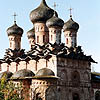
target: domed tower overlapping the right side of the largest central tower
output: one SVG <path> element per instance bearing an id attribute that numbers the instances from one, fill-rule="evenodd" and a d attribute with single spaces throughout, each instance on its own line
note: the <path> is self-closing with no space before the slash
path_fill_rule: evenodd
<path id="1" fill-rule="evenodd" d="M 64 21 L 58 18 L 54 12 L 53 17 L 46 22 L 46 25 L 49 28 L 49 42 L 52 44 L 60 44 L 61 30 L 64 25 Z"/>

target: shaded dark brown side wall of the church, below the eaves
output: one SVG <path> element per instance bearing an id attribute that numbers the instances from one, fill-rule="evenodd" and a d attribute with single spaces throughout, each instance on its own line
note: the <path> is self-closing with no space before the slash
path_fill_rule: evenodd
<path id="1" fill-rule="evenodd" d="M 60 100 L 91 100 L 91 69 L 87 61 L 57 59 L 57 76 Z M 62 96 L 63 95 L 63 96 Z"/>

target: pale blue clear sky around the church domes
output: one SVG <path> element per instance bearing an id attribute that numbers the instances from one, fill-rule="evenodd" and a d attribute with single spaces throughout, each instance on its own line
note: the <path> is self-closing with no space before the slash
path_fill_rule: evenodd
<path id="1" fill-rule="evenodd" d="M 33 27 L 29 14 L 39 6 L 41 0 L 1 0 L 0 1 L 0 58 L 3 58 L 5 49 L 9 48 L 6 33 L 8 27 L 13 25 L 13 14 L 16 12 L 17 24 L 23 28 L 22 48 L 29 50 L 27 31 Z M 78 45 L 82 46 L 84 54 L 91 55 L 98 64 L 92 63 L 92 71 L 100 72 L 100 0 L 46 0 L 53 8 L 56 2 L 56 11 L 61 19 L 69 20 L 71 7 L 74 21 L 80 25 L 78 31 Z M 64 36 L 62 33 L 62 42 Z"/>

